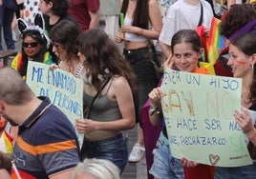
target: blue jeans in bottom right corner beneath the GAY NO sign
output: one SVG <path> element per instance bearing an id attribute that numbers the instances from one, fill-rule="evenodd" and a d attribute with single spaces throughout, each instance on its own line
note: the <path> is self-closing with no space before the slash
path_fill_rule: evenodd
<path id="1" fill-rule="evenodd" d="M 238 168 L 215 168 L 214 179 L 256 179 L 256 164 Z"/>

